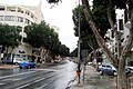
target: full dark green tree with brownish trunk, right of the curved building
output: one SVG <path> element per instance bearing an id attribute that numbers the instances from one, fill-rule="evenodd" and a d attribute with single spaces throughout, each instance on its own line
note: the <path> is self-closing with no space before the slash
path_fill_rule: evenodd
<path id="1" fill-rule="evenodd" d="M 65 52 L 60 50 L 62 44 L 58 33 L 47 22 L 32 23 L 27 26 L 24 31 L 27 33 L 25 42 L 34 48 L 40 48 L 41 59 L 51 61 L 51 59 L 55 60 L 57 56 L 65 56 Z M 68 51 L 68 49 L 64 50 Z"/>

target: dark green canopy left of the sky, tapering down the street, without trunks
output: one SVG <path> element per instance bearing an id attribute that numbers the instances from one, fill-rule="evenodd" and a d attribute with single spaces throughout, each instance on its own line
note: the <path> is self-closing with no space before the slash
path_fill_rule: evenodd
<path id="1" fill-rule="evenodd" d="M 58 33 L 44 21 L 39 24 L 32 23 L 27 26 L 25 32 L 25 42 L 33 46 L 34 48 L 44 47 L 54 55 L 69 55 L 69 48 L 65 44 L 61 44 Z"/>

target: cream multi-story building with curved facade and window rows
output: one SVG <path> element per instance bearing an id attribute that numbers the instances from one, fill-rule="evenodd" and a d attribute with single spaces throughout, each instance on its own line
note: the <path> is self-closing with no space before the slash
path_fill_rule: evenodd
<path id="1" fill-rule="evenodd" d="M 19 26 L 21 28 L 21 43 L 18 48 L 14 48 L 12 50 L 11 53 L 13 55 L 13 57 L 24 57 L 27 59 L 31 58 L 33 49 L 31 46 L 23 42 L 23 38 L 27 38 L 24 27 L 33 22 L 40 23 L 42 20 L 43 16 L 41 11 L 41 4 L 37 7 L 0 4 L 0 23 Z"/>

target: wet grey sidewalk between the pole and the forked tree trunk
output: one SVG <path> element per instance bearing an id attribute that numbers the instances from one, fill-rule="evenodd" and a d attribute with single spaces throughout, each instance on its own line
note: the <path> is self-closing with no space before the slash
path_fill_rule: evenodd
<path id="1" fill-rule="evenodd" d="M 86 66 L 84 71 L 84 82 L 82 72 L 81 83 L 78 83 L 78 80 L 75 80 L 70 89 L 115 89 L 115 78 L 100 76 L 92 66 Z"/>

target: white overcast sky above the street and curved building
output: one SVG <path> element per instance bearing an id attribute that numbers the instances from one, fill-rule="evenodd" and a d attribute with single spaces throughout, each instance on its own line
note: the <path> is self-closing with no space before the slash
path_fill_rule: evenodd
<path id="1" fill-rule="evenodd" d="M 40 0 L 0 0 L 1 3 L 38 6 Z M 45 22 L 50 26 L 57 26 L 59 30 L 60 41 L 73 50 L 76 48 L 78 38 L 74 37 L 72 9 L 78 6 L 78 0 L 62 0 L 58 6 L 51 9 L 52 4 L 48 4 L 47 0 L 42 0 L 42 12 Z"/>

